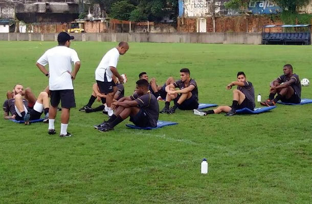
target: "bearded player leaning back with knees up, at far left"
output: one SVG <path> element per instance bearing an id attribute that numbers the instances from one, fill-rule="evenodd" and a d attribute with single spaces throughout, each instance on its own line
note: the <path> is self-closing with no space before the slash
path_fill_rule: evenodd
<path id="1" fill-rule="evenodd" d="M 33 109 L 28 109 L 28 100 L 23 98 L 22 94 L 24 88 L 22 85 L 17 84 L 13 88 L 14 96 L 11 99 L 7 99 L 3 104 L 4 118 L 5 119 L 15 119 L 15 120 L 24 120 L 25 124 L 29 124 L 29 120 L 40 119 L 42 111 L 44 110 L 43 122 L 49 121 L 49 95 L 47 92 L 42 91 L 35 104 Z M 9 115 L 11 113 L 11 116 Z"/>

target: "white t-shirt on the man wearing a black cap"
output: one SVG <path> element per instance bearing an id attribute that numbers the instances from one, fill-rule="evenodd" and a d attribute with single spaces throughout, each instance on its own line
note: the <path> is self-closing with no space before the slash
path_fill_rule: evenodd
<path id="1" fill-rule="evenodd" d="M 50 90 L 74 89 L 72 76 L 72 63 L 80 62 L 74 49 L 66 46 L 56 46 L 48 49 L 37 61 L 42 66 L 49 64 Z"/>

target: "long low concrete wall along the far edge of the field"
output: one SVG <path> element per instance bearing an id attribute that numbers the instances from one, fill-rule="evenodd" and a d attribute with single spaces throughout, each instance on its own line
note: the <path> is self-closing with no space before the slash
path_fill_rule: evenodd
<path id="1" fill-rule="evenodd" d="M 75 41 L 261 44 L 261 33 L 73 33 Z M 57 34 L 0 33 L 0 40 L 56 41 Z"/>

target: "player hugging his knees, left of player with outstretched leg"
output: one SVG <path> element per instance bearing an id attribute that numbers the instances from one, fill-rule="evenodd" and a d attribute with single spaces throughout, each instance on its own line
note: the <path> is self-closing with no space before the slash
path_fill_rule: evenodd
<path id="1" fill-rule="evenodd" d="M 198 89 L 195 80 L 190 78 L 190 70 L 183 68 L 180 70 L 181 80 L 166 86 L 166 103 L 162 114 L 172 114 L 177 108 L 180 110 L 193 110 L 198 108 Z M 180 90 L 175 90 L 179 88 Z M 173 100 L 174 106 L 169 109 L 170 101 Z"/>

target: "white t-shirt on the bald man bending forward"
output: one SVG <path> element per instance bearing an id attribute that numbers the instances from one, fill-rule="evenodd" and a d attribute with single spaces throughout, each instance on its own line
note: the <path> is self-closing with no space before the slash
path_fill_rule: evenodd
<path id="1" fill-rule="evenodd" d="M 109 67 L 117 68 L 117 63 L 119 60 L 119 51 L 116 47 L 110 49 L 102 58 L 98 68 L 95 70 L 95 80 L 104 82 L 104 75 L 106 71 L 107 81 L 112 82 L 113 73 Z"/>

